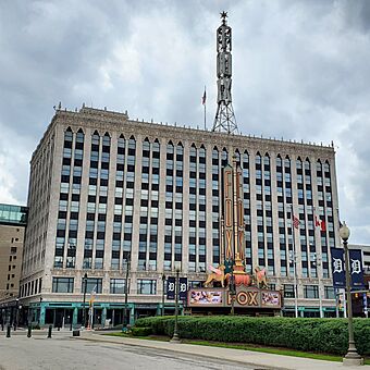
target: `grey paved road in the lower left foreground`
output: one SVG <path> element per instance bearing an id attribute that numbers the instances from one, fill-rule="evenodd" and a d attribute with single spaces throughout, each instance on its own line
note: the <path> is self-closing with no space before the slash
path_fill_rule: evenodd
<path id="1" fill-rule="evenodd" d="M 1 333 L 3 334 L 3 333 Z M 0 334 L 1 370 L 61 369 L 133 369 L 133 370 L 238 370 L 251 369 L 203 357 L 140 348 L 123 344 L 75 341 L 70 333 L 58 333 L 51 340 L 45 333 L 32 338 L 17 333 L 11 338 Z M 175 358 L 174 358 L 175 356 Z"/>

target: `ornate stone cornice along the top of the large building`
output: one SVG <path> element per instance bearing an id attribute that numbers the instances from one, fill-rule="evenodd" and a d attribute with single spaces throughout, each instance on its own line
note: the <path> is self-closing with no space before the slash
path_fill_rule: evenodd
<path id="1" fill-rule="evenodd" d="M 275 138 L 263 138 L 250 135 L 233 135 L 219 132 L 208 132 L 203 130 L 168 125 L 162 123 L 149 123 L 144 121 L 133 121 L 126 113 L 109 112 L 106 110 L 96 110 L 83 108 L 78 112 L 57 111 L 53 119 L 58 124 L 71 126 L 73 131 L 79 127 L 97 130 L 103 135 L 106 132 L 116 132 L 125 137 L 141 136 L 150 140 L 172 140 L 174 144 L 194 143 L 197 147 L 200 145 L 218 147 L 219 150 L 236 150 L 240 152 L 247 150 L 248 153 L 259 151 L 262 156 L 268 153 L 281 153 L 289 157 L 314 157 L 334 159 L 335 151 L 332 146 L 316 144 L 297 143 L 292 140 L 282 140 Z M 53 122 L 52 121 L 52 122 Z"/>

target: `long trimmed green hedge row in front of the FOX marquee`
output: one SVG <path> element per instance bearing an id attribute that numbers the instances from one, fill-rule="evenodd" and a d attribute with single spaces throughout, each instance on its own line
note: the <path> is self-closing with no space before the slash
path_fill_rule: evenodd
<path id="1" fill-rule="evenodd" d="M 174 317 L 136 321 L 153 334 L 173 335 Z M 359 354 L 370 356 L 370 320 L 355 319 L 355 342 Z M 306 351 L 345 355 L 348 349 L 346 319 L 292 319 L 250 317 L 178 317 L 183 338 L 259 344 Z"/>

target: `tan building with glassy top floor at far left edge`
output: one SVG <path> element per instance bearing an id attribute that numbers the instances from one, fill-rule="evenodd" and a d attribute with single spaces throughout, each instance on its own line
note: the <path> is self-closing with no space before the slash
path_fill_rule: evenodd
<path id="1" fill-rule="evenodd" d="M 17 311 L 27 208 L 0 205 L 0 317 L 13 322 Z"/>

